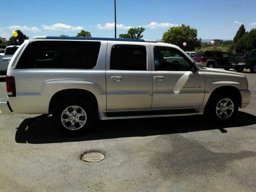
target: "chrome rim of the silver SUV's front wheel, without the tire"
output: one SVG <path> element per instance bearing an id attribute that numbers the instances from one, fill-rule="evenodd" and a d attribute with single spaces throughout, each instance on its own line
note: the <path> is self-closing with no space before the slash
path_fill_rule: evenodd
<path id="1" fill-rule="evenodd" d="M 234 103 L 228 99 L 222 99 L 216 106 L 216 114 L 221 119 L 229 118 L 234 111 Z"/>

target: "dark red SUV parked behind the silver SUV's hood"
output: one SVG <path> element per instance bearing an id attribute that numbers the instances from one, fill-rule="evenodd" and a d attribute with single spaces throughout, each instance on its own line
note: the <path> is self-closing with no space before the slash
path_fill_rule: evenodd
<path id="1" fill-rule="evenodd" d="M 209 68 L 224 68 L 229 70 L 232 68 L 230 55 L 221 51 L 199 51 L 194 55 L 194 60 L 199 62 L 201 66 Z"/>

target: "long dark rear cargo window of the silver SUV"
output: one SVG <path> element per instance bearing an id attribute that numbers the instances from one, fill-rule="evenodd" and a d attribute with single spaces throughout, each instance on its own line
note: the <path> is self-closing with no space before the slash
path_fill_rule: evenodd
<path id="1" fill-rule="evenodd" d="M 100 42 L 35 41 L 28 45 L 16 68 L 92 69 Z"/>

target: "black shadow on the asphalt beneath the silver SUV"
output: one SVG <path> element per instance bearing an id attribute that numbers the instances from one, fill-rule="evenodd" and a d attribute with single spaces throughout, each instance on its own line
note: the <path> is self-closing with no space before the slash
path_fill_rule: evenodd
<path id="1" fill-rule="evenodd" d="M 76 137 L 62 135 L 52 126 L 51 116 L 38 116 L 25 119 L 17 128 L 17 143 L 60 143 L 88 140 L 112 139 L 123 137 L 144 137 L 164 134 L 177 134 L 204 130 L 220 130 L 256 124 L 256 116 L 238 112 L 239 118 L 222 125 L 209 124 L 204 116 L 186 116 L 169 118 L 144 118 L 129 120 L 98 121 L 86 134 Z"/>

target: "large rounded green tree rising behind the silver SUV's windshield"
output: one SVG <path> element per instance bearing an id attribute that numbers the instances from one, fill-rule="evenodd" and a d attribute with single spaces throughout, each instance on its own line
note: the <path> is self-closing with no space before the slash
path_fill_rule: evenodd
<path id="1" fill-rule="evenodd" d="M 192 51 L 195 48 L 201 47 L 202 39 L 197 38 L 197 29 L 182 24 L 181 26 L 172 27 L 164 32 L 162 42 L 177 45 L 184 51 Z M 183 46 L 184 42 L 187 43 L 187 46 Z"/>

